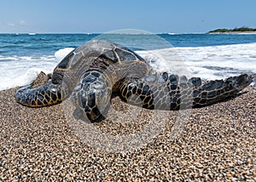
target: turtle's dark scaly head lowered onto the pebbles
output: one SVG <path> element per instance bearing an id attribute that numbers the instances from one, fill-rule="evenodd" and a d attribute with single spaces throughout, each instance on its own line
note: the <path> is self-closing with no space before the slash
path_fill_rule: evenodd
<path id="1" fill-rule="evenodd" d="M 72 94 L 77 107 L 75 117 L 83 121 L 102 122 L 108 114 L 111 94 L 108 77 L 98 71 L 85 73 Z"/>

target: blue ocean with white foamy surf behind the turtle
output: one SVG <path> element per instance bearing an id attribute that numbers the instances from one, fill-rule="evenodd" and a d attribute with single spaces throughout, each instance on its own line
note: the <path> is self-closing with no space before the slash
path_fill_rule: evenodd
<path id="1" fill-rule="evenodd" d="M 93 38 L 131 48 L 157 71 L 207 80 L 256 75 L 256 35 L 0 34 L 0 90 L 52 72 L 73 48 Z"/>

